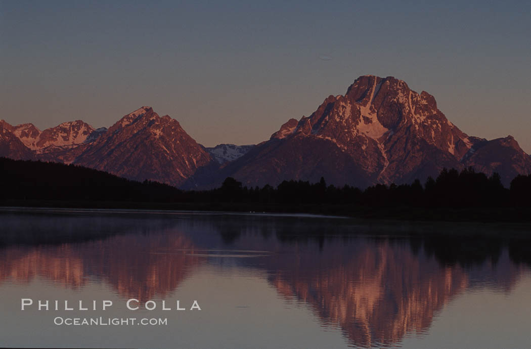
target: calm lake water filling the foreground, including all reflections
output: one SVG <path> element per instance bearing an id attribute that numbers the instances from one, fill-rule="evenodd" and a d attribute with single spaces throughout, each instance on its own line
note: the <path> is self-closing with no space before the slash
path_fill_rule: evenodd
<path id="1" fill-rule="evenodd" d="M 527 227 L 124 210 L 4 209 L 0 220 L 0 347 L 531 343 Z M 22 311 L 22 298 L 34 304 Z M 100 317 L 167 324 L 54 324 Z"/>

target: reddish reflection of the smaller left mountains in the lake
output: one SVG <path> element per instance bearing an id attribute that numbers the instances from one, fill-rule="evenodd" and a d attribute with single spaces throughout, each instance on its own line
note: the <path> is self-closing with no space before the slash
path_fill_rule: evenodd
<path id="1" fill-rule="evenodd" d="M 41 223 L 46 222 L 40 219 Z M 16 225 L 16 221 L 10 222 Z M 31 234 L 52 236 L 57 222 L 61 220 L 53 218 L 42 229 L 26 232 L 24 242 Z M 68 219 L 66 223 L 70 223 Z M 109 284 L 120 296 L 145 301 L 175 291 L 198 263 L 189 237 L 168 228 L 175 226 L 175 222 L 162 224 L 157 220 L 107 217 L 96 219 L 92 225 L 90 219 L 85 222 L 81 219 L 80 223 L 66 224 L 63 234 L 69 236 L 69 240 L 77 234 L 77 239 L 83 242 L 61 244 L 53 241 L 48 245 L 5 248 L 0 254 L 0 283 L 7 278 L 20 283 L 42 277 L 76 289 L 86 285 L 91 277 Z M 119 223 L 123 224 L 118 231 L 121 234 L 110 235 L 111 229 Z M 84 241 L 92 236 L 94 224 L 107 232 L 107 237 Z"/>

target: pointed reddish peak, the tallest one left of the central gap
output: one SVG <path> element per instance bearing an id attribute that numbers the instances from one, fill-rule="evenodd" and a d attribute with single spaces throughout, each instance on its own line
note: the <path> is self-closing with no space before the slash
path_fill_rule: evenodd
<path id="1" fill-rule="evenodd" d="M 134 180 L 179 186 L 211 161 L 175 119 L 142 107 L 89 143 L 74 163 Z"/>

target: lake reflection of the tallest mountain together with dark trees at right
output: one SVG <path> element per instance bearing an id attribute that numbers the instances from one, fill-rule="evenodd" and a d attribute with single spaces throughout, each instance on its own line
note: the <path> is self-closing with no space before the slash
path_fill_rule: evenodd
<path id="1" fill-rule="evenodd" d="M 251 236 L 270 236 L 270 230 L 255 228 L 253 234 L 247 226 L 236 245 L 258 248 Z M 280 295 L 309 304 L 356 346 L 396 345 L 407 333 L 425 333 L 434 314 L 460 292 L 476 287 L 509 292 L 521 274 L 511 261 L 521 254 L 516 243 L 498 237 L 331 239 L 329 233 L 340 232 L 330 230 L 318 227 L 307 236 L 293 226 L 277 227 L 276 237 L 285 244 L 262 267 Z M 273 249 L 277 243 L 265 242 Z M 519 245 L 526 250 L 529 241 Z M 260 248 L 267 249 L 263 241 Z"/>

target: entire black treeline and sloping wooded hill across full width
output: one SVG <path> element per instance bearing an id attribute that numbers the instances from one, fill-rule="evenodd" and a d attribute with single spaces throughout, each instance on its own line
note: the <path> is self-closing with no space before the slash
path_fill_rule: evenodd
<path id="1" fill-rule="evenodd" d="M 182 191 L 157 182 L 136 182 L 94 169 L 0 158 L 0 199 L 113 201 L 161 203 L 233 203 L 269 207 L 308 205 L 356 207 L 482 208 L 531 206 L 531 175 L 519 175 L 504 188 L 498 174 L 488 177 L 473 169 L 458 172 L 443 169 L 425 183 L 353 186 L 284 181 L 277 188 L 247 188 L 234 178 L 227 178 L 220 188 L 205 191 Z M 230 208 L 230 207 L 228 207 Z M 344 211 L 342 213 L 345 213 Z"/>

